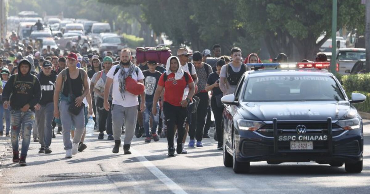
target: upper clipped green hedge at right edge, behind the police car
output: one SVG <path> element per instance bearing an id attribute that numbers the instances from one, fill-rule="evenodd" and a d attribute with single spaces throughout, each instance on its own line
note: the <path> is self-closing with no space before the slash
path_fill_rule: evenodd
<path id="1" fill-rule="evenodd" d="M 370 73 L 344 75 L 341 78 L 342 85 L 346 92 L 364 91 L 370 93 Z"/>

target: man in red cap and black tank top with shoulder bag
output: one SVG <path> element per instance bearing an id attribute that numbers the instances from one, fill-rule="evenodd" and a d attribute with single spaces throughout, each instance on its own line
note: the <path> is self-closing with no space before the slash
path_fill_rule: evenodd
<path id="1" fill-rule="evenodd" d="M 75 53 L 68 54 L 67 64 L 68 68 L 59 73 L 55 83 L 54 117 L 61 120 L 65 157 L 71 158 L 77 154 L 78 144 L 85 131 L 83 99 L 89 92 L 89 83 L 87 73 L 77 68 Z M 77 111 L 70 112 L 70 106 L 71 110 Z M 92 107 L 89 107 L 89 114 L 93 114 Z M 72 125 L 76 128 L 73 142 L 71 142 Z"/>

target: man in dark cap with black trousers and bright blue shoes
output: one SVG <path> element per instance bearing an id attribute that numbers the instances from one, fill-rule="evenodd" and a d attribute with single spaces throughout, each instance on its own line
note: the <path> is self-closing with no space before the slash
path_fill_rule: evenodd
<path id="1" fill-rule="evenodd" d="M 195 96 L 198 96 L 199 98 L 199 105 L 196 109 L 196 129 L 189 129 L 189 136 L 190 141 L 194 141 L 194 138 L 196 138 L 196 147 L 203 147 L 203 129 L 207 118 L 209 104 L 208 92 L 205 90 L 205 86 L 207 84 L 209 74 L 212 73 L 212 67 L 207 63 L 202 62 L 202 53 L 200 52 L 195 52 L 193 54 L 193 63 L 196 75 L 198 76 L 198 83 L 196 84 L 198 86 L 198 92 Z"/>

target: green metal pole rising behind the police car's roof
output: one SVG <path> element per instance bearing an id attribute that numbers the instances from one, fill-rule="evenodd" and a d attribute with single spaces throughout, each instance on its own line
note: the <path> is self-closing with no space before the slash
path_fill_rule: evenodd
<path id="1" fill-rule="evenodd" d="M 370 0 L 367 1 L 370 2 Z M 337 0 L 333 0 L 332 14 L 332 60 L 330 61 L 330 71 L 335 75 L 337 65 Z"/>

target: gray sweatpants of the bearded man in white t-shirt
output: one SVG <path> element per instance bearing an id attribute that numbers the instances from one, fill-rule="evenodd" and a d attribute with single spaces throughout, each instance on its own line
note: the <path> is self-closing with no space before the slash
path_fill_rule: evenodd
<path id="1" fill-rule="evenodd" d="M 134 138 L 134 131 L 138 115 L 138 105 L 123 107 L 121 105 L 112 105 L 112 128 L 114 140 L 121 140 L 122 125 L 125 123 L 124 144 L 131 144 Z"/>

